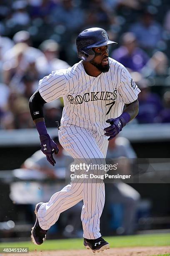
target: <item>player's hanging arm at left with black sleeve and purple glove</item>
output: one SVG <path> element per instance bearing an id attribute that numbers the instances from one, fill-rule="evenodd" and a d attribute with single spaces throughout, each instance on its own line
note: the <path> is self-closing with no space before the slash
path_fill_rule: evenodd
<path id="1" fill-rule="evenodd" d="M 45 103 L 47 102 L 41 97 L 39 90 L 37 90 L 30 97 L 29 107 L 32 120 L 40 135 L 41 151 L 46 155 L 47 160 L 50 162 L 50 164 L 54 166 L 56 162 L 52 154 L 57 154 L 58 148 L 56 143 L 50 138 L 50 135 L 47 133 L 43 114 L 43 106 Z"/>

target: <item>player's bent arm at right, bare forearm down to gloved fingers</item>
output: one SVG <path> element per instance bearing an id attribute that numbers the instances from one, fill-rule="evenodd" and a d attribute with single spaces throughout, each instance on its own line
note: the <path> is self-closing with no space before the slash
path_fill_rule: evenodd
<path id="1" fill-rule="evenodd" d="M 133 120 L 138 115 L 139 112 L 139 102 L 138 99 L 130 104 L 125 104 L 122 115 L 117 118 L 110 118 L 106 123 L 110 123 L 110 126 L 105 128 L 105 136 L 108 136 L 108 141 L 114 138 L 122 128 L 130 121 Z"/>

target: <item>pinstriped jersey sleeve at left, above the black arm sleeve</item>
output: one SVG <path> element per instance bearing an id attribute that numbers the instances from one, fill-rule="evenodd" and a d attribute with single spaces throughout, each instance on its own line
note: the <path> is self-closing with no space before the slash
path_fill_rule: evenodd
<path id="1" fill-rule="evenodd" d="M 46 102 L 67 95 L 67 79 L 64 72 L 62 70 L 52 71 L 51 74 L 39 81 L 38 89 Z"/>

